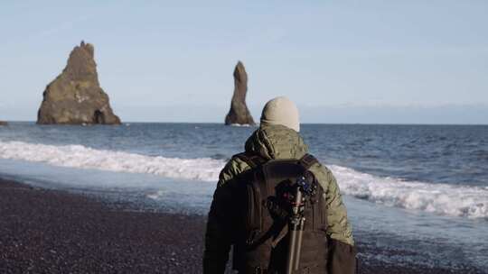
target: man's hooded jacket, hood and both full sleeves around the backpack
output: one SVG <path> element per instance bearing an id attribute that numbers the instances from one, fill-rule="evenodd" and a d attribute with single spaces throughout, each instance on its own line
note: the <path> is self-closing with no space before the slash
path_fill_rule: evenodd
<path id="1" fill-rule="evenodd" d="M 279 124 L 261 124 L 253 132 L 245 145 L 245 151 L 260 155 L 265 160 L 301 159 L 308 153 L 308 146 L 294 130 Z M 240 173 L 249 170 L 249 165 L 233 157 L 221 170 L 211 211 L 208 216 L 203 254 L 204 273 L 223 273 L 229 260 L 230 246 L 233 242 L 233 230 L 230 216 L 233 215 L 230 181 Z M 324 188 L 327 206 L 327 237 L 329 238 L 328 274 L 352 274 L 355 271 L 355 248 L 352 239 L 352 227 L 347 219 L 347 212 L 330 169 L 320 163 L 310 169 Z"/>

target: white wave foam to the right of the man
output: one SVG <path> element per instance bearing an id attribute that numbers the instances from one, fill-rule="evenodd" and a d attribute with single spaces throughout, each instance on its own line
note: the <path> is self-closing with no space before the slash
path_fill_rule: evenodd
<path id="1" fill-rule="evenodd" d="M 331 166 L 343 193 L 379 204 L 436 215 L 488 218 L 488 188 L 379 178 L 340 166 Z"/>

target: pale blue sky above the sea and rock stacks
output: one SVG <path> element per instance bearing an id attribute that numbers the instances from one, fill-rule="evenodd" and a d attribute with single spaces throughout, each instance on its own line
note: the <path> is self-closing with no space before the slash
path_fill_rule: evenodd
<path id="1" fill-rule="evenodd" d="M 488 123 L 488 1 L 0 0 L 0 120 L 35 121 L 81 40 L 127 122 L 222 123 L 241 60 L 258 120 Z"/>

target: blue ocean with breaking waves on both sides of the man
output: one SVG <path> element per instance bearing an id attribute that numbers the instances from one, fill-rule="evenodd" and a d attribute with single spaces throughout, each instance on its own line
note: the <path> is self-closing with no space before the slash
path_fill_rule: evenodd
<path id="1" fill-rule="evenodd" d="M 303 124 L 338 180 L 365 260 L 488 269 L 488 126 Z M 0 177 L 206 215 L 225 162 L 255 127 L 124 123 L 0 127 Z M 397 254 L 397 255 L 391 255 Z"/>

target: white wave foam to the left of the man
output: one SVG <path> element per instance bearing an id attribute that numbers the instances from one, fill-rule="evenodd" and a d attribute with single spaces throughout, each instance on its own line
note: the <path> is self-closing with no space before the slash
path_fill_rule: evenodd
<path id="1" fill-rule="evenodd" d="M 82 145 L 54 146 L 27 142 L 0 142 L 0 158 L 29 160 L 54 166 L 148 173 L 168 178 L 216 181 L 224 166 L 211 158 L 151 157 L 124 151 L 94 150 Z"/>

